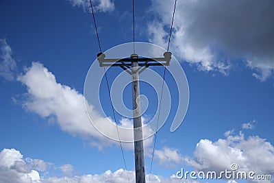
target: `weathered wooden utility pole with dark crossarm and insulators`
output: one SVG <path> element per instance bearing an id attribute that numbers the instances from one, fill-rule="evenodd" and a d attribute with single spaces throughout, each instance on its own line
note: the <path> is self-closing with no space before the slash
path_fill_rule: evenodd
<path id="1" fill-rule="evenodd" d="M 120 66 L 132 75 L 132 106 L 134 121 L 134 154 L 136 183 L 145 183 L 144 145 L 142 141 L 142 119 L 140 108 L 139 74 L 149 66 L 169 66 L 171 52 L 165 52 L 163 58 L 138 58 L 133 53 L 129 58 L 105 59 L 104 53 L 97 54 L 100 66 Z"/>

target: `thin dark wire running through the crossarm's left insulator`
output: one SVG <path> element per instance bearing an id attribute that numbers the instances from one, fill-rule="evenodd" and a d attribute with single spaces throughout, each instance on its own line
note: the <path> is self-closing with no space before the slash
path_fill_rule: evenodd
<path id="1" fill-rule="evenodd" d="M 95 21 L 95 15 L 94 15 L 94 12 L 93 12 L 91 0 L 90 0 L 90 8 L 92 10 L 93 21 L 95 23 L 95 29 L 96 29 L 96 34 L 97 34 L 97 40 L 98 40 L 98 45 L 99 45 L 100 53 L 102 53 L 101 45 L 100 45 L 100 40 L 99 40 L 99 35 L 98 35 L 98 31 L 97 31 L 97 25 L 96 25 L 96 21 Z M 116 117 L 115 117 L 115 112 L 114 112 L 114 106 L 113 106 L 111 95 L 110 95 L 110 85 L 108 84 L 108 75 L 107 75 L 107 73 L 105 71 L 105 66 L 103 66 L 103 71 L 104 71 L 104 75 L 105 75 L 105 81 L 106 81 L 107 86 L 108 86 L 108 94 L 109 94 L 110 103 L 111 103 L 111 106 L 112 106 L 112 114 L 113 114 L 113 117 L 114 117 L 114 121 L 116 123 L 116 130 L 117 130 L 117 134 L 118 134 L 118 137 L 119 137 L 119 143 L 120 143 L 121 152 L 122 152 L 122 156 L 123 156 L 123 162 L 125 164 L 125 171 L 127 172 L 127 180 L 129 182 L 129 175 L 128 175 L 128 171 L 127 171 L 127 164 L 125 162 L 125 155 L 124 155 L 124 151 L 123 151 L 123 146 L 122 146 L 122 143 L 121 143 L 121 140 L 120 140 L 121 138 L 120 138 L 120 134 L 119 134 L 118 125 L 117 125 L 117 122 L 116 122 Z"/>

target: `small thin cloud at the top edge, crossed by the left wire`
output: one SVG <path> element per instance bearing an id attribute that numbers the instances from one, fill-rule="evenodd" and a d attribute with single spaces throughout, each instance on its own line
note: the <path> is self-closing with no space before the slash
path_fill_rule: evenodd
<path id="1" fill-rule="evenodd" d="M 67 0 L 73 6 L 82 7 L 83 10 L 90 10 L 89 0 Z M 98 12 L 108 12 L 114 10 L 114 2 L 112 0 L 92 0 L 93 10 Z"/>

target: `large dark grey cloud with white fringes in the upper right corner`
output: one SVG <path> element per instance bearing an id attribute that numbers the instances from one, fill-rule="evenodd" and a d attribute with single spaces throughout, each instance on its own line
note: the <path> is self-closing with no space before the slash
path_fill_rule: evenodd
<path id="1" fill-rule="evenodd" d="M 166 47 L 173 3 L 151 0 L 156 18 L 148 25 L 152 42 Z M 204 71 L 227 73 L 233 60 L 245 60 L 266 80 L 274 69 L 274 1 L 178 1 L 171 51 Z"/>

